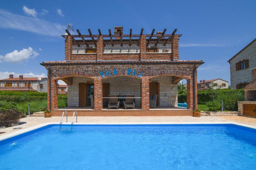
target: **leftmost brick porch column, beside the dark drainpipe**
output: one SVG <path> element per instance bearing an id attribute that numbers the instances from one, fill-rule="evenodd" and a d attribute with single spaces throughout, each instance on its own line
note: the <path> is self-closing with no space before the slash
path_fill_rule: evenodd
<path id="1" fill-rule="evenodd" d="M 48 73 L 49 77 L 49 73 Z M 51 88 L 51 110 L 58 109 L 58 92 L 57 92 L 57 85 L 58 81 L 54 80 L 51 77 L 51 84 L 49 84 L 49 79 L 47 80 L 47 109 L 49 110 L 50 108 L 50 95 L 49 95 L 49 89 Z"/>

